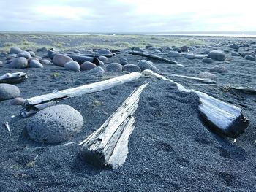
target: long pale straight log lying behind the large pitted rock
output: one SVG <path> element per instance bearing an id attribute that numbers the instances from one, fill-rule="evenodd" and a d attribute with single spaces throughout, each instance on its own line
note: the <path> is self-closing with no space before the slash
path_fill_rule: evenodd
<path id="1" fill-rule="evenodd" d="M 113 88 L 116 85 L 124 84 L 132 80 L 140 78 L 142 74 L 139 72 L 132 72 L 130 74 L 124 74 L 119 77 L 114 77 L 109 80 L 94 82 L 89 85 L 82 85 L 77 88 L 69 88 L 62 91 L 53 91 L 41 96 L 35 96 L 30 99 L 26 99 L 23 104 L 23 109 L 20 111 L 20 115 L 24 118 L 34 114 L 35 112 L 49 107 L 50 105 L 56 104 L 56 101 L 60 99 L 67 99 L 69 97 L 81 96 L 83 94 L 96 93 L 99 91 Z"/>

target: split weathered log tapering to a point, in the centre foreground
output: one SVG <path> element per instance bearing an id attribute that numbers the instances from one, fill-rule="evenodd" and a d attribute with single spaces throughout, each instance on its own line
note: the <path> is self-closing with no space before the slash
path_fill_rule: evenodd
<path id="1" fill-rule="evenodd" d="M 148 83 L 135 89 L 103 125 L 79 145 L 79 156 L 94 166 L 121 167 L 128 154 L 129 135 L 132 134 L 135 118 L 132 115 L 138 108 L 140 93 Z"/>

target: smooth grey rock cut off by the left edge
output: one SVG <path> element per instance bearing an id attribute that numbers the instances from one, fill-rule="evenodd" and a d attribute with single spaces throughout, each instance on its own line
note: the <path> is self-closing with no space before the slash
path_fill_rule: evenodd
<path id="1" fill-rule="evenodd" d="M 6 83 L 0 84 L 0 101 L 13 99 L 18 96 L 20 96 L 20 89 L 18 87 Z"/>

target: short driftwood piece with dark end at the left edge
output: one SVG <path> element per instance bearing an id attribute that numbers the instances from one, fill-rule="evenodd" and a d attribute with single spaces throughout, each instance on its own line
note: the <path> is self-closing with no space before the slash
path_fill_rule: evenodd
<path id="1" fill-rule="evenodd" d="M 26 80 L 28 76 L 24 72 L 7 73 L 0 76 L 0 83 L 18 83 Z"/>

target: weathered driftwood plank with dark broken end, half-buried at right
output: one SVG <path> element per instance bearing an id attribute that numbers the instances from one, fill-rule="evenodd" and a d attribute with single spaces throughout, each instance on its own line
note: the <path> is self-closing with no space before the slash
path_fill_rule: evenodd
<path id="1" fill-rule="evenodd" d="M 208 96 L 206 93 L 195 91 L 193 89 L 186 89 L 178 82 L 167 79 L 151 70 L 145 70 L 143 73 L 173 82 L 177 85 L 179 91 L 196 93 L 197 96 L 199 96 L 200 101 L 198 107 L 200 115 L 214 131 L 224 134 L 227 137 L 236 138 L 243 134 L 244 130 L 249 126 L 249 120 L 244 117 L 239 107 L 227 104 L 212 96 Z"/>

